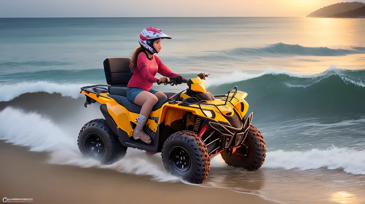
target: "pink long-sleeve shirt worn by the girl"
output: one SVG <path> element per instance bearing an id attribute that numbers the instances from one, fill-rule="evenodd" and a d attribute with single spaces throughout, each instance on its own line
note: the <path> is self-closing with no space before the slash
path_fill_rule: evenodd
<path id="1" fill-rule="evenodd" d="M 153 83 L 159 80 L 155 77 L 157 73 L 164 77 L 179 76 L 167 68 L 158 56 L 153 55 L 152 59 L 149 59 L 147 53 L 141 52 L 137 56 L 137 65 L 127 87 L 138 87 L 148 91 L 152 88 Z"/>

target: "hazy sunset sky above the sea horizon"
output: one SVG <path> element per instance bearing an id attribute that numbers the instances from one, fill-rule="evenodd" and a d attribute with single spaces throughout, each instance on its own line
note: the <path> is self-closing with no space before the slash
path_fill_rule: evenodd
<path id="1" fill-rule="evenodd" d="M 341 1 L 0 0 L 0 17 L 305 16 Z"/>

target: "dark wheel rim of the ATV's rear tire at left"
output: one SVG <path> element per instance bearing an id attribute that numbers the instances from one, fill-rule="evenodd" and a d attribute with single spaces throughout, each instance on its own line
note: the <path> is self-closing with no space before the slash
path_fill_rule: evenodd
<path id="1" fill-rule="evenodd" d="M 98 134 L 88 134 L 85 139 L 86 153 L 94 158 L 100 158 L 104 155 L 104 141 Z"/>

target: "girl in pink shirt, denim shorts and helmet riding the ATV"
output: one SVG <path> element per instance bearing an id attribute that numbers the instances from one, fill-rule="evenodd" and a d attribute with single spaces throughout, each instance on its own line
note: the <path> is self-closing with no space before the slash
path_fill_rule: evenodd
<path id="1" fill-rule="evenodd" d="M 139 35 L 140 47 L 134 50 L 130 59 L 129 67 L 133 76 L 127 85 L 127 98 L 130 102 L 142 106 L 137 125 L 133 131 L 133 138 L 135 140 L 141 139 L 147 144 L 151 143 L 151 138 L 143 132 L 143 126 L 158 100 L 167 98 L 164 93 L 152 89 L 152 84 L 163 82 L 166 85 L 166 77 L 180 76 L 170 71 L 160 58 L 154 55 L 161 51 L 161 41 L 165 38 L 171 39 L 160 29 L 153 27 L 144 29 Z M 157 73 L 164 77 L 157 79 L 155 77 Z"/>

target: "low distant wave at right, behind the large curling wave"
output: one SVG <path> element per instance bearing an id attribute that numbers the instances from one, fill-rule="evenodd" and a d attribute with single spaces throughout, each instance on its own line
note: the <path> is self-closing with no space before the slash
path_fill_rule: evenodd
<path id="1" fill-rule="evenodd" d="M 260 48 L 239 47 L 222 50 L 219 53 L 239 56 L 345 56 L 349 54 L 364 54 L 365 47 L 351 47 L 347 49 L 331 49 L 328 47 L 305 47 L 299 44 L 285 44 L 282 42 Z"/>

